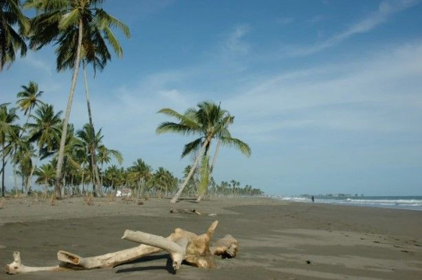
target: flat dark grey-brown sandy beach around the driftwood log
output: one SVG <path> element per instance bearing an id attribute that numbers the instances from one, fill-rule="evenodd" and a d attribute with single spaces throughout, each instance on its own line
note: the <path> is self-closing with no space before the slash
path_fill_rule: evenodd
<path id="1" fill-rule="evenodd" d="M 111 269 L 35 272 L 0 279 L 422 279 L 422 211 L 286 202 L 268 198 L 137 201 L 8 199 L 0 210 L 0 263 L 19 250 L 26 266 L 54 266 L 56 252 L 89 257 L 131 248 L 126 229 L 167 236 L 174 228 L 239 242 L 217 268 L 184 265 L 177 274 L 163 252 Z M 195 208 L 201 215 L 170 213 Z M 216 214 L 216 215 L 208 215 Z"/>

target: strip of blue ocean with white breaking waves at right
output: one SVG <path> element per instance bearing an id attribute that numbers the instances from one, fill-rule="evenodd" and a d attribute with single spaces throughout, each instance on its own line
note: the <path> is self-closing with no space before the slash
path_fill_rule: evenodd
<path id="1" fill-rule="evenodd" d="M 311 203 L 309 196 L 276 195 L 274 198 Z M 422 196 L 315 196 L 315 203 L 366 207 L 397 208 L 422 211 Z"/>

